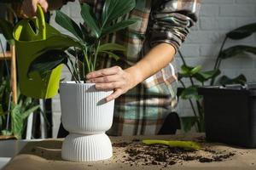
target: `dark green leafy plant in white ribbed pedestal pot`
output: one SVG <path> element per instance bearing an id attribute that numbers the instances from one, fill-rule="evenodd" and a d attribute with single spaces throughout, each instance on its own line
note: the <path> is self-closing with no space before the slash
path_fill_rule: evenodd
<path id="1" fill-rule="evenodd" d="M 113 155 L 112 145 L 105 134 L 113 122 L 114 101 L 105 102 L 112 91 L 98 91 L 85 76 L 96 70 L 99 57 L 104 54 L 119 59 L 115 51 L 125 52 L 122 45 L 104 42 L 105 37 L 133 25 L 136 19 L 119 20 L 136 5 L 135 0 L 106 0 L 102 15 L 95 16 L 86 3 L 81 5 L 83 24 L 77 25 L 67 14 L 56 11 L 55 21 L 70 31 L 73 37 L 61 37 L 55 45 L 45 48 L 32 61 L 28 77 L 33 72 L 41 76 L 59 65 L 67 65 L 73 75 L 71 82 L 61 82 L 61 120 L 70 133 L 62 145 L 61 156 L 69 161 L 98 161 Z M 66 39 L 63 42 L 63 37 Z"/>

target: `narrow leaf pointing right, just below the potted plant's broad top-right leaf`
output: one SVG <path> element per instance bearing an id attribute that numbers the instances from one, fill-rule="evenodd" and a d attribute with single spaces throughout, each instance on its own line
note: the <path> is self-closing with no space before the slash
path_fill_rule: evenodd
<path id="1" fill-rule="evenodd" d="M 104 27 L 102 30 L 102 36 L 108 35 L 115 31 L 123 30 L 128 26 L 131 26 L 137 22 L 136 19 L 122 20 L 119 23 L 114 24 L 113 26 Z"/>

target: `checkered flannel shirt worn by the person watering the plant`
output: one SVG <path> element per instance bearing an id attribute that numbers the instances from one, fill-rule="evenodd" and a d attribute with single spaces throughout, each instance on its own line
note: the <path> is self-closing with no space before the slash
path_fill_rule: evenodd
<path id="1" fill-rule="evenodd" d="M 101 14 L 104 0 L 82 0 Z M 199 0 L 137 0 L 136 8 L 125 17 L 136 18 L 135 25 L 119 31 L 108 42 L 117 42 L 127 48 L 123 56 L 136 63 L 156 44 L 166 42 L 177 51 L 194 26 Z M 155 56 L 157 57 L 157 56 Z M 129 67 L 123 61 L 104 59 L 102 67 L 119 65 Z M 157 134 L 166 116 L 177 107 L 177 69 L 175 59 L 165 68 L 148 77 L 115 100 L 113 126 L 110 135 Z M 172 126 L 172 125 L 170 125 Z"/>

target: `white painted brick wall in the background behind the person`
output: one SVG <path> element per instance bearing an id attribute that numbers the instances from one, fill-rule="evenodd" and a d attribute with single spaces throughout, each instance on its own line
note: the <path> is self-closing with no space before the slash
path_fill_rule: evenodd
<path id="1" fill-rule="evenodd" d="M 203 65 L 203 68 L 208 70 L 213 67 L 224 34 L 238 26 L 256 21 L 256 0 L 201 0 L 201 2 L 200 20 L 191 30 L 181 51 L 186 56 L 189 65 Z M 78 3 L 68 3 L 62 10 L 72 16 L 73 20 L 81 20 Z M 52 24 L 56 26 L 54 21 Z M 56 27 L 60 28 L 60 26 Z M 61 28 L 60 30 L 64 31 Z M 227 47 L 241 43 L 255 46 L 255 42 L 256 35 L 253 35 L 241 42 L 229 41 Z M 181 64 L 179 57 L 176 58 L 177 63 Z M 256 81 L 256 56 L 225 60 L 221 68 L 224 74 L 230 77 L 236 77 L 243 73 L 249 82 Z M 68 72 L 64 71 L 63 75 L 63 77 L 68 77 Z M 56 134 L 61 116 L 59 97 L 54 99 L 53 108 L 54 134 Z M 191 115 L 191 109 L 187 102 L 181 101 L 178 111 L 180 116 Z"/>

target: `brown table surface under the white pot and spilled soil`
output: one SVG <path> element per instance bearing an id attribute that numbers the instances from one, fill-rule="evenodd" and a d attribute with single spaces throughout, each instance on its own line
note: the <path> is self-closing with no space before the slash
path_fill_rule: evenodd
<path id="1" fill-rule="evenodd" d="M 111 137 L 113 143 L 130 142 L 132 139 L 178 139 L 178 140 L 195 140 L 201 138 L 201 133 L 196 134 L 179 134 L 172 136 L 140 136 L 140 137 Z M 201 143 L 203 146 L 210 147 L 212 150 L 225 150 L 236 153 L 230 159 L 225 161 L 214 161 L 201 163 L 199 161 L 183 161 L 174 165 L 163 167 L 160 165 L 131 165 L 123 162 L 125 156 L 125 147 L 113 147 L 113 157 L 106 161 L 95 162 L 72 162 L 61 160 L 62 139 L 47 139 L 40 142 L 31 142 L 26 144 L 20 154 L 15 156 L 5 170 L 66 170 L 66 169 L 203 169 L 203 170 L 255 170 L 256 169 L 256 150 L 242 149 L 231 147 L 225 144 Z"/>

